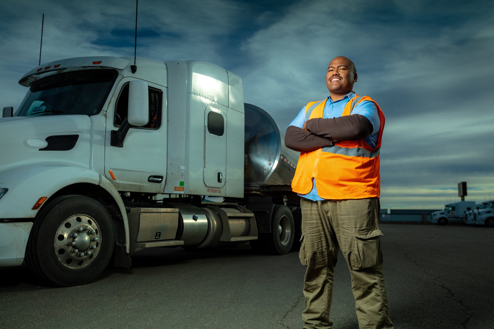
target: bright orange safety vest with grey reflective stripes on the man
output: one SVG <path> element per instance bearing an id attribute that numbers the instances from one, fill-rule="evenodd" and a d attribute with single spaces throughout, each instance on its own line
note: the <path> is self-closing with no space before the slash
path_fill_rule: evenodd
<path id="1" fill-rule="evenodd" d="M 369 96 L 348 101 L 341 116 L 350 115 L 355 105 L 372 101 Z M 375 103 L 375 102 L 374 102 Z M 322 118 L 326 101 L 310 102 L 305 106 L 305 120 Z M 379 114 L 379 137 L 375 147 L 363 139 L 339 141 L 333 146 L 301 151 L 295 176 L 291 182 L 294 192 L 307 194 L 312 190 L 312 178 L 317 194 L 323 199 L 363 199 L 379 197 L 379 150 L 384 129 L 384 114 L 375 103 Z"/>

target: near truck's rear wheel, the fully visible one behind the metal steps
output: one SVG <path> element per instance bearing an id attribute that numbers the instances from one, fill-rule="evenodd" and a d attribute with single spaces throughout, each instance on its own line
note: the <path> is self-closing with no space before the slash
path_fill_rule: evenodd
<path id="1" fill-rule="evenodd" d="M 275 255 L 285 255 L 293 244 L 295 225 L 287 206 L 275 206 L 271 220 L 271 233 L 259 233 L 258 240 L 250 241 L 256 251 L 265 251 Z"/>

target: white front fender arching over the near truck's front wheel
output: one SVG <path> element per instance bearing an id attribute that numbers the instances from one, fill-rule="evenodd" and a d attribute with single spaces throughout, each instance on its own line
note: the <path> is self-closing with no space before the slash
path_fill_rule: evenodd
<path id="1" fill-rule="evenodd" d="M 115 186 L 106 177 L 88 168 L 37 163 L 0 173 L 0 187 L 8 188 L 7 193 L 0 199 L 0 218 L 32 218 L 34 220 L 39 209 L 33 210 L 32 208 L 41 197 L 46 197 L 49 200 L 60 189 L 77 183 L 101 186 L 113 197 L 122 214 L 128 253 L 128 221 L 124 202 Z M 2 207 L 2 204 L 8 204 L 8 207 Z"/>

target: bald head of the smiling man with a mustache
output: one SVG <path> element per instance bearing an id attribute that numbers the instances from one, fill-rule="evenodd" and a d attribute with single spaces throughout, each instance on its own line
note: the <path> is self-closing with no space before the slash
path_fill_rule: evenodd
<path id="1" fill-rule="evenodd" d="M 356 81 L 357 71 L 355 64 L 351 60 L 338 56 L 329 63 L 328 73 L 326 73 L 326 86 L 333 101 L 342 99 L 351 92 Z"/>

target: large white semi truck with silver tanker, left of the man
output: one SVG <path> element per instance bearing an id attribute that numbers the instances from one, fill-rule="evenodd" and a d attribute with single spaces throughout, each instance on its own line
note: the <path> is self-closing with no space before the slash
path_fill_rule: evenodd
<path id="1" fill-rule="evenodd" d="M 20 79 L 27 95 L 0 118 L 0 266 L 25 261 L 71 286 L 144 248 L 288 253 L 298 152 L 244 104 L 241 78 L 199 61 L 131 61 L 65 59 Z"/>

